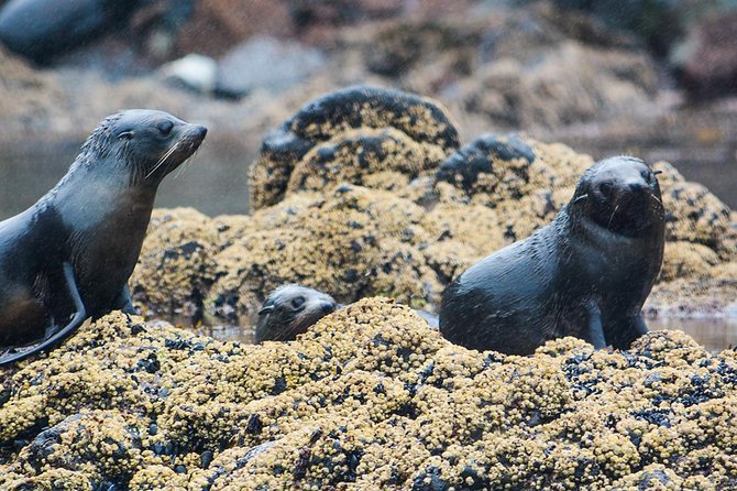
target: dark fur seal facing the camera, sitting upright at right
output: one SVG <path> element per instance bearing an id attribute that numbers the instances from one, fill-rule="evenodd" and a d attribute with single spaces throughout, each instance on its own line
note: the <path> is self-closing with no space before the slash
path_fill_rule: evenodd
<path id="1" fill-rule="evenodd" d="M 550 225 L 448 286 L 442 335 L 468 348 L 510 354 L 529 354 L 564 336 L 597 349 L 629 347 L 647 332 L 640 309 L 663 257 L 656 174 L 629 156 L 590 167 Z"/>

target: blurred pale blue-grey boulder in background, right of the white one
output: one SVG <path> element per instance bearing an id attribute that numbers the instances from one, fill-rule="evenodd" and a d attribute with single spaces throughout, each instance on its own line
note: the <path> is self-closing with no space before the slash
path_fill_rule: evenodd
<path id="1" fill-rule="evenodd" d="M 294 41 L 254 36 L 218 61 L 217 90 L 242 97 L 253 90 L 278 94 L 323 69 L 324 55 Z"/>

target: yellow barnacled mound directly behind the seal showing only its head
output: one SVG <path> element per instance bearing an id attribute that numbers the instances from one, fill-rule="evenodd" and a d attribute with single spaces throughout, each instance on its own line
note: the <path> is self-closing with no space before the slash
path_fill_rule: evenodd
<path id="1" fill-rule="evenodd" d="M 417 306 L 437 302 L 442 287 L 419 250 L 428 242 L 422 216 L 422 208 L 387 192 L 351 185 L 326 190 L 285 226 L 252 230 L 223 249 L 208 303 L 216 312 L 230 305 L 238 314 L 254 313 L 273 288 L 292 282 L 343 303 L 367 292 Z"/>

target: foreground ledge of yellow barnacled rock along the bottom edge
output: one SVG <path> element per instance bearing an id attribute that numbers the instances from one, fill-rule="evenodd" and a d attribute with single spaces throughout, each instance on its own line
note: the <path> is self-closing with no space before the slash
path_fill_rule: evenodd
<path id="1" fill-rule="evenodd" d="M 378 297 L 263 346 L 116 312 L 0 378 L 0 489 L 737 485 L 735 352 L 678 331 L 514 357 Z"/>

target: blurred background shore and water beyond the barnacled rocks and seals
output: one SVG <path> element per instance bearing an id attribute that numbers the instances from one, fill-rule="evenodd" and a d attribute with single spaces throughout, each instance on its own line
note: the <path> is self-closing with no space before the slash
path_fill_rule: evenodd
<path id="1" fill-rule="evenodd" d="M 267 131 L 358 83 L 440 100 L 464 141 L 521 130 L 594 157 L 668 160 L 735 207 L 736 9 L 734 0 L 0 1 L 0 217 L 33 203 L 100 119 L 130 107 L 211 129 L 161 206 L 245 212 L 248 165 Z"/>

